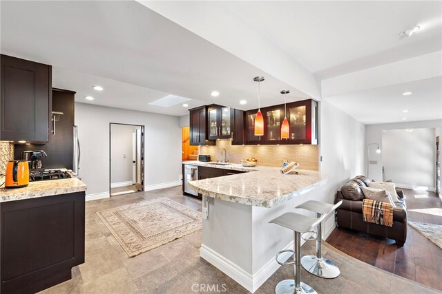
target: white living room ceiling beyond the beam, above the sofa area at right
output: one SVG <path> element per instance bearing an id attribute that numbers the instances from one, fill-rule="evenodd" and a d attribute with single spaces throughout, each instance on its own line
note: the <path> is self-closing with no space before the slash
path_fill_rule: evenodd
<path id="1" fill-rule="evenodd" d="M 402 95 L 403 92 L 410 90 L 413 94 Z M 329 97 L 327 101 L 362 123 L 370 125 L 441 119 L 441 93 L 442 77 L 439 76 Z M 403 110 L 408 112 L 404 113 Z"/>

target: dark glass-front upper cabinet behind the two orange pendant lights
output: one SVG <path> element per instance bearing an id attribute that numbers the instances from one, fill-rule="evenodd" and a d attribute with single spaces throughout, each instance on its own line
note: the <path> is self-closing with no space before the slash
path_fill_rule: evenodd
<path id="1" fill-rule="evenodd" d="M 245 116 L 245 145 L 318 144 L 318 103 L 311 99 L 287 103 L 288 139 L 281 138 L 284 105 L 261 108 L 264 116 L 264 136 L 253 134 L 253 122 L 258 109 L 249 110 Z"/>

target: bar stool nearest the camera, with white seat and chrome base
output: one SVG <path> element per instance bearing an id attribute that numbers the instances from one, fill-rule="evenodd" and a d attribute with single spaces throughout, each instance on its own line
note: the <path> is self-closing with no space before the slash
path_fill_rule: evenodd
<path id="1" fill-rule="evenodd" d="M 282 227 L 294 231 L 294 250 L 287 249 L 279 251 L 276 254 L 276 262 L 281 265 L 295 264 L 295 280 L 282 280 L 279 282 L 275 287 L 276 294 L 316 294 L 314 288 L 301 282 L 301 233 L 311 231 L 316 225 L 323 221 L 325 216 L 326 215 L 320 218 L 311 218 L 310 216 L 303 216 L 299 213 L 287 212 L 269 222 L 271 224 L 279 224 Z M 282 263 L 278 260 L 278 256 L 285 252 L 294 253 L 294 262 Z"/>

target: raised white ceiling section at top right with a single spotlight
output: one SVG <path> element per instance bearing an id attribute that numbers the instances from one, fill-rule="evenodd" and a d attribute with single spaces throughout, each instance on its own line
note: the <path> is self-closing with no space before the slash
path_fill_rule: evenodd
<path id="1" fill-rule="evenodd" d="M 442 1 L 226 3 L 319 79 L 442 50 Z"/>

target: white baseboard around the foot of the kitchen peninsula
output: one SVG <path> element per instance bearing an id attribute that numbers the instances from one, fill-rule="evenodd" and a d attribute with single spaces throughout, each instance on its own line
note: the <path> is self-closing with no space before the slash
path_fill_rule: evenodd
<path id="1" fill-rule="evenodd" d="M 309 238 L 309 235 L 311 234 L 306 234 L 305 238 Z M 301 239 L 301 245 L 304 243 L 305 240 Z M 283 249 L 293 249 L 293 246 L 294 242 L 291 241 Z M 271 277 L 271 275 L 273 275 L 273 273 L 275 273 L 280 267 L 280 264 L 276 262 L 275 258 L 271 258 L 271 260 L 266 262 L 265 265 L 262 266 L 258 271 L 256 271 L 255 274 L 251 275 L 251 273 L 244 271 L 244 269 L 238 266 L 238 264 L 235 264 L 234 262 L 231 262 L 231 260 L 224 258 L 224 256 L 213 251 L 204 244 L 201 244 L 200 256 L 204 258 L 204 260 L 215 266 L 217 269 L 231 277 L 233 280 L 238 282 L 238 284 L 246 288 L 247 291 L 250 291 L 251 293 L 254 293 L 256 290 L 258 290 L 258 288 L 262 284 L 264 284 L 265 281 L 267 281 L 269 277 Z M 279 260 L 280 262 L 285 262 L 290 258 L 290 256 L 291 253 L 289 252 L 282 253 L 280 254 Z"/>

